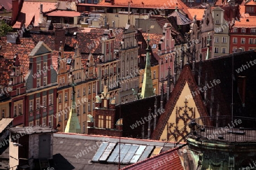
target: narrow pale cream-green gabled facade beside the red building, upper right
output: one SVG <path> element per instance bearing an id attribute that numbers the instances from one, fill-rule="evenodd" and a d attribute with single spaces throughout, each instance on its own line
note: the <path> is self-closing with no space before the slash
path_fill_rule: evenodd
<path id="1" fill-rule="evenodd" d="M 216 7 L 212 10 L 214 22 L 214 57 L 225 56 L 229 54 L 229 28 L 230 25 L 224 18 L 224 10 Z"/>

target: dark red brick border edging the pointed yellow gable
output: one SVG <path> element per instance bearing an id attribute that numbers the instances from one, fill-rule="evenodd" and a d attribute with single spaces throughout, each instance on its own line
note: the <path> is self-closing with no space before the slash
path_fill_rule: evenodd
<path id="1" fill-rule="evenodd" d="M 165 112 L 161 114 L 156 128 L 154 132 L 151 135 L 152 139 L 159 140 L 160 136 L 163 133 L 164 128 L 166 127 L 166 124 L 171 116 L 172 111 L 175 109 L 175 105 L 177 103 L 177 100 L 180 97 L 181 91 L 183 90 L 185 83 L 188 83 L 189 89 L 193 92 L 197 90 L 197 83 L 196 80 L 192 74 L 192 71 L 188 65 L 185 65 L 183 70 L 180 73 L 180 77 L 177 80 L 177 83 L 174 87 L 174 90 L 171 93 L 170 99 L 167 101 L 167 104 L 165 106 Z M 193 99 L 195 100 L 197 111 L 199 112 L 200 116 L 208 116 L 207 109 L 204 106 L 203 99 L 200 95 L 193 96 Z"/>

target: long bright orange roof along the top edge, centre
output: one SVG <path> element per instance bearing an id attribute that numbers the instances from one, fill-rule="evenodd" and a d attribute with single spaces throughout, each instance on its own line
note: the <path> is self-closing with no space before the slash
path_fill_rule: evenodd
<path id="1" fill-rule="evenodd" d="M 142 4 L 144 3 L 144 5 Z M 164 8 L 167 9 L 175 9 L 177 3 L 178 8 L 183 8 L 184 6 L 180 5 L 181 2 L 180 0 L 175 0 L 175 1 L 170 1 L 167 3 L 166 0 L 159 0 L 159 1 L 154 1 L 154 0 L 133 0 L 133 3 L 130 3 L 131 7 L 136 7 L 136 8 L 159 8 L 160 6 L 163 6 Z M 114 3 L 106 2 L 105 0 L 101 1 L 98 3 L 100 6 L 128 6 L 128 2 L 126 0 L 118 0 L 114 1 Z M 165 6 L 166 5 L 166 6 Z"/>

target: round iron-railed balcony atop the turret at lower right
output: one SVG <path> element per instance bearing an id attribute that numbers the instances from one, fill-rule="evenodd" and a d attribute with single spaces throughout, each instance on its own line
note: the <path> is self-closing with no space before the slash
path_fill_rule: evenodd
<path id="1" fill-rule="evenodd" d="M 256 118 L 211 116 L 199 117 L 189 123 L 189 137 L 208 142 L 255 142 Z"/>

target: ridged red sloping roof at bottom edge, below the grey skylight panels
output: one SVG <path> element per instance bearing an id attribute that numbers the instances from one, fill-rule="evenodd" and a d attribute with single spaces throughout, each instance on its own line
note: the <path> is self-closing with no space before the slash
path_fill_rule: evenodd
<path id="1" fill-rule="evenodd" d="M 161 154 L 147 158 L 141 162 L 129 165 L 122 168 L 122 170 L 181 170 L 184 167 L 181 165 L 181 160 L 178 153 L 178 148 L 162 152 Z"/>

